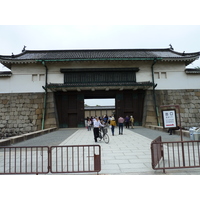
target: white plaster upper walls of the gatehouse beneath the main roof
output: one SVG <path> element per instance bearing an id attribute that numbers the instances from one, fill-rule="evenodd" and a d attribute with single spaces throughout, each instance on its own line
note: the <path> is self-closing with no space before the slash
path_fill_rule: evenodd
<path id="1" fill-rule="evenodd" d="M 68 62 L 47 64 L 48 83 L 63 83 L 64 74 L 60 72 L 62 68 L 121 68 L 139 67 L 136 73 L 136 81 L 152 82 L 151 62 Z M 25 93 L 44 92 L 45 77 L 40 80 L 40 75 L 45 75 L 45 67 L 42 64 L 15 65 L 11 68 L 11 77 L 0 77 L 0 93 Z M 106 70 L 106 69 L 105 69 Z M 155 73 L 166 73 L 166 78 L 156 78 L 156 89 L 199 89 L 200 75 L 186 74 L 183 63 L 159 62 L 154 65 Z M 38 79 L 33 81 L 33 75 Z"/>

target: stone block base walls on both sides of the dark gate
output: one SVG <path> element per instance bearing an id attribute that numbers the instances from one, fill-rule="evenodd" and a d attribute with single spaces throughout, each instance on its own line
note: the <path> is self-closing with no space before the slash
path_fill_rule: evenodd
<path id="1" fill-rule="evenodd" d="M 200 90 L 156 90 L 159 122 L 160 105 L 179 105 L 181 125 L 190 128 L 200 125 Z M 44 93 L 0 94 L 0 138 L 34 132 L 42 128 Z M 44 128 L 58 127 L 53 93 L 47 96 Z M 158 125 L 152 91 L 146 91 L 143 126 Z"/>

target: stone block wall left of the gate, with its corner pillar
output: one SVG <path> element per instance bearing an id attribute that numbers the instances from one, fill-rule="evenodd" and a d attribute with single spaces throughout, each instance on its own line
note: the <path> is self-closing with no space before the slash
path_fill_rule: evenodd
<path id="1" fill-rule="evenodd" d="M 0 137 L 42 128 L 44 93 L 0 94 Z M 56 127 L 53 93 L 48 94 L 45 128 Z"/>

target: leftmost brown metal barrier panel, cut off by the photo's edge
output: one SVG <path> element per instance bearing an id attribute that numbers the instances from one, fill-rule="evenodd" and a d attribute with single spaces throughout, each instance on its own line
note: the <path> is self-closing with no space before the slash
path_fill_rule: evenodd
<path id="1" fill-rule="evenodd" d="M 49 147 L 0 147 L 0 174 L 49 172 Z"/>

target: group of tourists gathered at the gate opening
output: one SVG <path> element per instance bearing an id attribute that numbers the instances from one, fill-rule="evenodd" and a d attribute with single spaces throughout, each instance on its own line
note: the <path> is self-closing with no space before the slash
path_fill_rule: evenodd
<path id="1" fill-rule="evenodd" d="M 119 135 L 123 135 L 123 128 L 124 126 L 126 128 L 133 128 L 134 127 L 134 118 L 133 116 L 126 116 L 125 118 L 119 117 L 118 120 L 115 120 L 114 116 L 108 117 L 107 115 L 104 115 L 103 117 L 87 117 L 86 119 L 86 127 L 88 131 L 91 131 L 93 127 L 94 136 L 98 135 L 99 128 L 105 125 L 109 125 L 111 128 L 111 133 L 114 136 L 115 127 L 119 127 Z M 96 142 L 96 139 L 95 139 Z"/>

